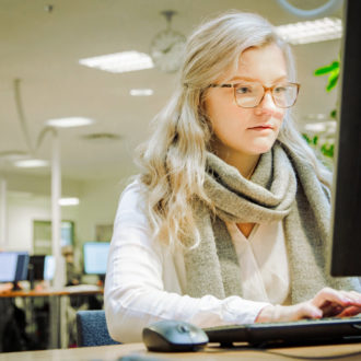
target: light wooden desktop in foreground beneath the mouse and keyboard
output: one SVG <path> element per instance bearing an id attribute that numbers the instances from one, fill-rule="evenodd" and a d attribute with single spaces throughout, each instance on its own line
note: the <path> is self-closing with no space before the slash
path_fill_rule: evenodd
<path id="1" fill-rule="evenodd" d="M 45 350 L 45 351 L 25 351 L 1 353 L 0 361 L 18 361 L 18 360 L 117 360 L 121 356 L 140 354 L 143 360 L 147 357 L 154 360 L 287 360 L 284 356 L 294 357 L 301 356 L 316 360 L 323 358 L 328 360 L 331 357 L 347 353 L 356 353 L 351 357 L 338 358 L 337 360 L 359 361 L 361 359 L 361 343 L 349 345 L 331 345 L 331 346 L 312 346 L 270 349 L 269 351 L 249 350 L 246 348 L 237 349 L 219 349 L 217 347 L 208 347 L 203 351 L 190 353 L 155 353 L 148 352 L 142 343 L 128 343 L 101 347 L 84 347 L 74 349 L 61 350 Z"/>

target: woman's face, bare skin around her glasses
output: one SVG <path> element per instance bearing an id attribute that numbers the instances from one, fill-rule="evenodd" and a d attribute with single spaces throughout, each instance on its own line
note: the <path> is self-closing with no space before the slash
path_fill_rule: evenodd
<path id="1" fill-rule="evenodd" d="M 258 82 L 271 86 L 287 80 L 286 59 L 276 44 L 245 50 L 235 74 L 228 72 L 221 83 Z M 235 103 L 233 88 L 210 88 L 205 109 L 213 130 L 212 147 L 223 160 L 255 156 L 267 152 L 275 143 L 282 125 L 284 109 L 278 107 L 270 91 L 260 104 L 243 108 Z"/>

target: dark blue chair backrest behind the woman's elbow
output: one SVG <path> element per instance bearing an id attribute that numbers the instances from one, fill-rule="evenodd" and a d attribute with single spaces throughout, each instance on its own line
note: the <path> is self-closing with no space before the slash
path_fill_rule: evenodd
<path id="1" fill-rule="evenodd" d="M 104 310 L 77 312 L 78 346 L 119 345 L 106 326 Z"/>

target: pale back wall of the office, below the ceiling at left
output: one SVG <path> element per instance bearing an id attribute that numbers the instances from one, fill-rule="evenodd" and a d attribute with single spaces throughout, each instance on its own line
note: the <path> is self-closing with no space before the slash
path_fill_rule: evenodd
<path id="1" fill-rule="evenodd" d="M 12 251 L 33 252 L 33 221 L 51 220 L 51 199 L 49 190 L 36 191 L 38 184 L 46 182 L 37 177 L 23 176 L 27 189 L 16 185 L 18 189 L 8 190 L 7 196 L 7 224 L 8 236 L 3 247 Z M 84 242 L 95 241 L 95 228 L 98 224 L 113 224 L 119 195 L 127 183 L 124 178 L 110 178 L 102 180 L 73 182 L 71 187 L 65 182 L 62 194 L 79 197 L 80 205 L 74 207 L 61 207 L 61 219 L 70 220 L 75 225 L 75 245 L 78 249 Z M 9 183 L 10 184 L 10 183 Z M 12 185 L 13 186 L 13 185 Z M 9 187 L 9 188 L 12 188 Z M 44 187 L 40 189 L 45 189 Z"/>

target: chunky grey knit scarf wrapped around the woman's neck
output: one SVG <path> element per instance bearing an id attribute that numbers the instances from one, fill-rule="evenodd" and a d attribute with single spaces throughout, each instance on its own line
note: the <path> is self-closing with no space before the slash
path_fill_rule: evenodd
<path id="1" fill-rule="evenodd" d="M 216 206 L 216 216 L 203 202 L 195 201 L 201 242 L 185 253 L 187 294 L 242 296 L 242 265 L 224 221 L 282 221 L 293 304 L 313 298 L 325 286 L 358 289 L 357 279 L 328 276 L 329 191 L 319 183 L 313 167 L 284 144 L 276 142 L 260 156 L 249 180 L 208 153 L 205 189 Z"/>

